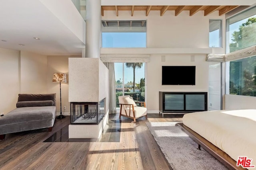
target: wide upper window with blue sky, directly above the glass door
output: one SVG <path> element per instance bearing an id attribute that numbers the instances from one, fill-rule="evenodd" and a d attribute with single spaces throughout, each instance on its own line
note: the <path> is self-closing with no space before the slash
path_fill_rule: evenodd
<path id="1" fill-rule="evenodd" d="M 102 48 L 146 48 L 146 21 L 102 21 Z"/>

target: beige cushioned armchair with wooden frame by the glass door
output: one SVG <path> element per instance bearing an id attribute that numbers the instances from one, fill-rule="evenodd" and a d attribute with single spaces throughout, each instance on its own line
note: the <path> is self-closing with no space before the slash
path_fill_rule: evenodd
<path id="1" fill-rule="evenodd" d="M 124 117 L 128 117 L 130 119 L 134 120 L 134 123 L 136 122 L 136 119 L 146 116 L 147 117 L 147 108 L 145 102 L 134 102 L 131 96 L 118 96 L 118 101 L 120 105 L 120 115 Z M 137 106 L 137 104 L 140 104 L 140 106 L 143 105 L 143 107 Z"/>

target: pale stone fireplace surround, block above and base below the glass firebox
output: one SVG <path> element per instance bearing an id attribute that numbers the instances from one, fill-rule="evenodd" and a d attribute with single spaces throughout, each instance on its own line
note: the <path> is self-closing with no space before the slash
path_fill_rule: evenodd
<path id="1" fill-rule="evenodd" d="M 99 58 L 69 58 L 68 69 L 69 102 L 98 103 L 105 99 L 103 119 L 98 124 L 69 125 L 69 138 L 98 138 L 108 119 L 108 68 Z"/>

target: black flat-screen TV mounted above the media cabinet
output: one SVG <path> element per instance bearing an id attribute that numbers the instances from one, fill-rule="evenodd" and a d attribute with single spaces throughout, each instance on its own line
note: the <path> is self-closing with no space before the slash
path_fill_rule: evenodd
<path id="1" fill-rule="evenodd" d="M 196 66 L 162 66 L 162 85 L 196 85 Z"/>

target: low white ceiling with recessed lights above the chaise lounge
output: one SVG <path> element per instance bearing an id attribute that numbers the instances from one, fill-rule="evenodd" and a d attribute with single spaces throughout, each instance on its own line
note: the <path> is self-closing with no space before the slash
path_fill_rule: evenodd
<path id="1" fill-rule="evenodd" d="M 0 48 L 78 55 L 84 46 L 40 0 L 0 0 Z"/>

